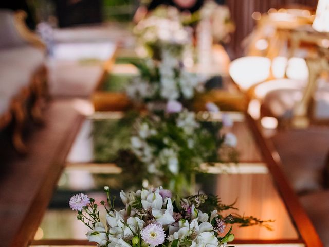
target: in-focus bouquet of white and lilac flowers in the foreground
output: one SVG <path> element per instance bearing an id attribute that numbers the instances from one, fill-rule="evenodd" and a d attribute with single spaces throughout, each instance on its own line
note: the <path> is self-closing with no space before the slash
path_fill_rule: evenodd
<path id="1" fill-rule="evenodd" d="M 234 239 L 232 226 L 226 232 L 227 224 L 244 226 L 251 219 L 224 215 L 225 210 L 234 208 L 222 204 L 216 196 L 198 194 L 179 198 L 161 187 L 122 191 L 120 197 L 125 207 L 117 211 L 109 187 L 104 189 L 107 205 L 104 201 L 100 204 L 106 210 L 107 227 L 93 198 L 80 193 L 69 201 L 70 207 L 78 211 L 77 219 L 90 228 L 87 238 L 98 247 L 217 247 Z"/>

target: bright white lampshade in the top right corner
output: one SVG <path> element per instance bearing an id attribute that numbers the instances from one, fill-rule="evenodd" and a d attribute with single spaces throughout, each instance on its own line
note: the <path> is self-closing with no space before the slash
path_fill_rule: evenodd
<path id="1" fill-rule="evenodd" d="M 329 0 L 319 0 L 312 27 L 318 32 L 329 32 Z"/>

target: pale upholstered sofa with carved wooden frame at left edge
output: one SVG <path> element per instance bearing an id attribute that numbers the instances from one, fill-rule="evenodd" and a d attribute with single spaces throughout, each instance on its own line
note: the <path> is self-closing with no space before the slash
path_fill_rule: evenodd
<path id="1" fill-rule="evenodd" d="M 0 129 L 14 119 L 13 144 L 24 152 L 23 124 L 28 103 L 41 118 L 38 101 L 45 82 L 45 47 L 25 25 L 23 11 L 0 10 Z"/>

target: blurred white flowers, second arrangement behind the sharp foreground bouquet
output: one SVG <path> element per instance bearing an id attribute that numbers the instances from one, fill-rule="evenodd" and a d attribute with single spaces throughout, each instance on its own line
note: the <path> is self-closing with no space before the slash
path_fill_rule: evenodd
<path id="1" fill-rule="evenodd" d="M 148 104 L 151 109 L 155 104 L 164 107 L 161 102 L 166 104 L 170 100 L 186 104 L 196 92 L 204 90 L 202 79 L 188 72 L 169 52 L 164 52 L 161 62 L 142 59 L 134 65 L 140 76 L 127 86 L 127 95 L 134 102 Z"/>

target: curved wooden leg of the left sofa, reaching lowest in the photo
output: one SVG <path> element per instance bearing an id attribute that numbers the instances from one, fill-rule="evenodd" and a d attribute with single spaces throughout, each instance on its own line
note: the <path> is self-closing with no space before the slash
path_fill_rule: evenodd
<path id="1" fill-rule="evenodd" d="M 13 115 L 15 118 L 12 142 L 14 148 L 21 154 L 27 153 L 27 147 L 23 142 L 23 127 L 26 119 L 26 112 L 20 100 L 15 99 L 12 104 Z"/>

